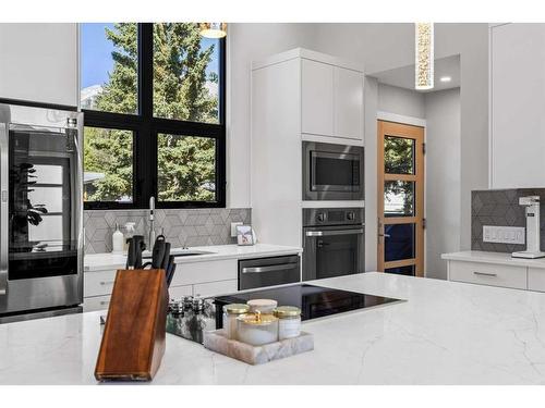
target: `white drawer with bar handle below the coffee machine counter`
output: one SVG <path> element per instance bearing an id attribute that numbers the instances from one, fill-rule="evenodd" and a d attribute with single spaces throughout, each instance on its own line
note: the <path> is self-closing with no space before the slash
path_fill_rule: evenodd
<path id="1" fill-rule="evenodd" d="M 526 268 L 488 264 L 481 262 L 449 262 L 450 281 L 476 283 L 480 285 L 526 288 Z"/>

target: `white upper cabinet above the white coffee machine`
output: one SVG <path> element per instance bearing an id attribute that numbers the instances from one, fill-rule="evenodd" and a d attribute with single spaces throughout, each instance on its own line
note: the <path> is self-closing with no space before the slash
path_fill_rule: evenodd
<path id="1" fill-rule="evenodd" d="M 491 30 L 491 187 L 545 187 L 545 24 Z"/>

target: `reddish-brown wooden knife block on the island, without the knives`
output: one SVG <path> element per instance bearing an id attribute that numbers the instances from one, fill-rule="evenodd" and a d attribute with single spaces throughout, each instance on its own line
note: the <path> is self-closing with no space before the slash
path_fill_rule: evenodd
<path id="1" fill-rule="evenodd" d="M 168 289 L 165 271 L 119 270 L 95 378 L 150 381 L 165 354 Z"/>

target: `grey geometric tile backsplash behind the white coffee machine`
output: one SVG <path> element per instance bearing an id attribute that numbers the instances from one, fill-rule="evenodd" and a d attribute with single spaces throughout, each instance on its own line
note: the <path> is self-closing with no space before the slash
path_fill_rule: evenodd
<path id="1" fill-rule="evenodd" d="M 471 191 L 471 249 L 493 252 L 525 250 L 525 245 L 483 243 L 483 225 L 526 226 L 524 207 L 519 197 L 541 197 L 541 246 L 545 250 L 545 188 L 516 188 Z"/>

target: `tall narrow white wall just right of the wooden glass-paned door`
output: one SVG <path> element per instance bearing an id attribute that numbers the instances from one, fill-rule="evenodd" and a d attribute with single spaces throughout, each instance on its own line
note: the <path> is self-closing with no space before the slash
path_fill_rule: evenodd
<path id="1" fill-rule="evenodd" d="M 425 95 L 426 276 L 447 279 L 445 252 L 460 250 L 460 88 Z"/>

